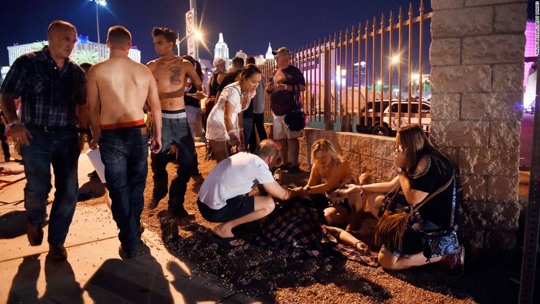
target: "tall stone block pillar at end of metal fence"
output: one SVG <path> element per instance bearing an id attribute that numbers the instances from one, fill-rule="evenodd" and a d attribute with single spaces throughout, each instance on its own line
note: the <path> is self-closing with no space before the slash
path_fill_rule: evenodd
<path id="1" fill-rule="evenodd" d="M 527 1 L 432 0 L 431 133 L 460 169 L 473 254 L 516 244 Z"/>

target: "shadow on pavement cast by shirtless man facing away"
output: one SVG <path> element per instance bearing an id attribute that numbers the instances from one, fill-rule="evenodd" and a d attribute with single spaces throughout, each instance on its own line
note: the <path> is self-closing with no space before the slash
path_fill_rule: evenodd
<path id="1" fill-rule="evenodd" d="M 106 260 L 84 289 L 96 303 L 174 303 L 161 265 L 140 245 L 144 254 L 134 259 Z M 140 252 L 139 252 L 140 254 Z"/>

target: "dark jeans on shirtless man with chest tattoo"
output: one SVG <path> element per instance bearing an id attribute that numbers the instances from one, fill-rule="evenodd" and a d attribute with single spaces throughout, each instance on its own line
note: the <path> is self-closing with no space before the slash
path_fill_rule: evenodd
<path id="1" fill-rule="evenodd" d="M 170 160 L 167 153 L 171 150 L 171 145 L 178 148 L 176 160 L 178 163 L 177 177 L 171 181 L 168 190 L 169 201 L 168 211 L 176 213 L 184 208 L 184 195 L 186 194 L 187 183 L 190 181 L 194 162 L 195 143 L 191 136 L 190 126 L 187 118 L 163 118 L 161 129 L 161 151 L 152 154 L 152 172 L 154 173 L 154 199 L 163 199 L 167 195 L 168 173 L 166 166 Z"/>

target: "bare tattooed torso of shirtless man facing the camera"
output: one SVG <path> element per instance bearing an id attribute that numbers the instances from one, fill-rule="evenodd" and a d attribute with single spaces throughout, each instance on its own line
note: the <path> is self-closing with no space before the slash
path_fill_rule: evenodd
<path id="1" fill-rule="evenodd" d="M 185 59 L 176 57 L 172 60 L 156 59 L 147 63 L 158 85 L 161 110 L 183 110 L 184 86 L 186 76 L 191 78 L 193 85 L 200 89 L 200 78 L 193 65 Z"/>

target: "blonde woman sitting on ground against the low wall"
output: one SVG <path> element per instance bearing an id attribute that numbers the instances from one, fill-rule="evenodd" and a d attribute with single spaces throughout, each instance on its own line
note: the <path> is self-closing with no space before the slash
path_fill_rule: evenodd
<path id="1" fill-rule="evenodd" d="M 311 161 L 313 168 L 307 185 L 303 187 L 308 194 L 306 200 L 309 200 L 309 205 L 323 211 L 324 217 L 321 219 L 328 225 L 339 226 L 354 222 L 356 213 L 361 210 L 360 192 L 335 192 L 354 183 L 349 162 L 338 155 L 327 139 L 313 143 Z"/>

